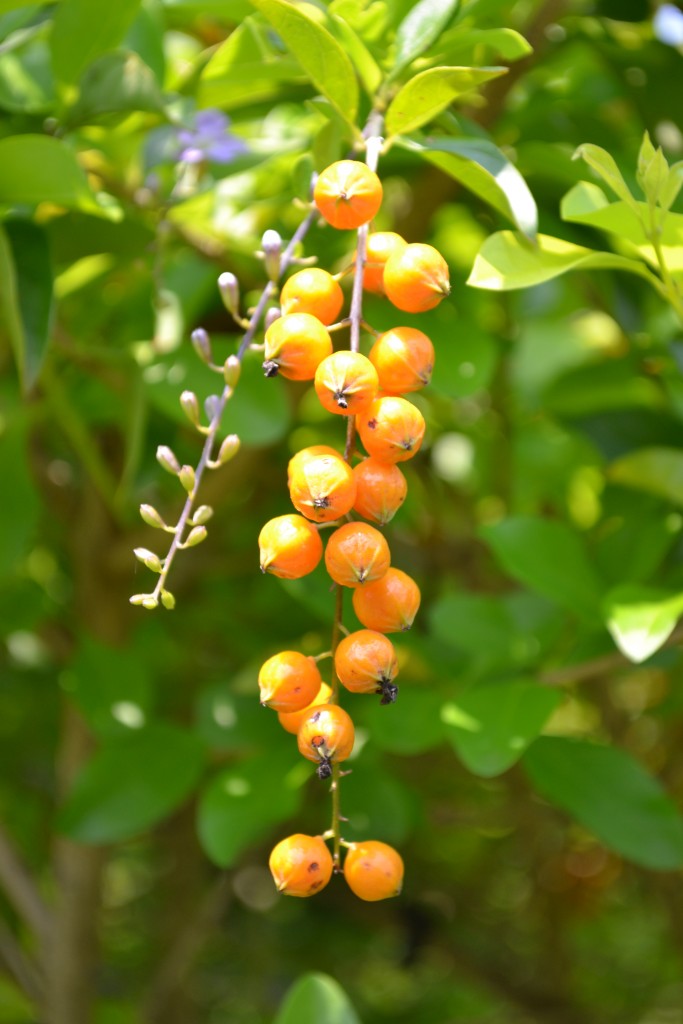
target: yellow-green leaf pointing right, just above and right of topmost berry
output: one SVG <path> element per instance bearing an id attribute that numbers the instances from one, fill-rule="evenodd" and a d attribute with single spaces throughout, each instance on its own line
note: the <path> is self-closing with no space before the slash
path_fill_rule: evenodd
<path id="1" fill-rule="evenodd" d="M 483 82 L 499 78 L 507 68 L 429 68 L 410 79 L 386 113 L 386 134 L 405 134 L 432 121 L 454 99 Z"/>

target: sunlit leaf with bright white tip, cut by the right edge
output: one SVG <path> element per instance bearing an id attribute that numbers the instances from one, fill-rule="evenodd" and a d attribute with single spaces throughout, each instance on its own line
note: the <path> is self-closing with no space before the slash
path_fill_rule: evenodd
<path id="1" fill-rule="evenodd" d="M 667 642 L 683 614 L 683 594 L 625 584 L 604 600 L 607 629 L 630 662 L 640 664 Z"/>

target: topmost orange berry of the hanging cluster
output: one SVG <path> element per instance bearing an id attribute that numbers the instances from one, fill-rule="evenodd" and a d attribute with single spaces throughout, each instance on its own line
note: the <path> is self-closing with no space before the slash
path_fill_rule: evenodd
<path id="1" fill-rule="evenodd" d="M 360 227 L 382 205 L 382 182 L 359 160 L 338 160 L 318 174 L 313 202 L 333 227 Z"/>

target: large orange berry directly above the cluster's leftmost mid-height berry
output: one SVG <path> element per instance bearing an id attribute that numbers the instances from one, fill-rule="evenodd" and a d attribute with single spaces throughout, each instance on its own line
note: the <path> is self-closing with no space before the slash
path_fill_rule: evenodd
<path id="1" fill-rule="evenodd" d="M 290 475 L 290 498 L 298 512 L 313 522 L 332 522 L 350 512 L 355 479 L 338 455 L 321 455 L 299 464 Z"/>

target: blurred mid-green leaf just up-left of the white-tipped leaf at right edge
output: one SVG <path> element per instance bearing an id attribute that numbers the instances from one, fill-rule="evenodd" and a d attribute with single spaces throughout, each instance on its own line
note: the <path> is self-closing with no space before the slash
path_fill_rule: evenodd
<path id="1" fill-rule="evenodd" d="M 479 530 L 501 567 L 570 611 L 593 618 L 602 586 L 583 542 L 566 523 L 518 516 Z"/>

